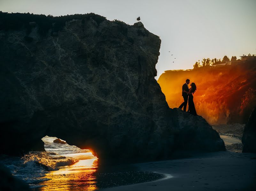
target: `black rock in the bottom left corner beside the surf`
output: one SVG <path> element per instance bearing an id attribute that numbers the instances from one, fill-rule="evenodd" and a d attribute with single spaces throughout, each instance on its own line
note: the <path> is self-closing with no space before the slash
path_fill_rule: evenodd
<path id="1" fill-rule="evenodd" d="M 0 190 L 1 191 L 28 191 L 29 186 L 22 180 L 14 177 L 3 165 L 0 165 Z"/>

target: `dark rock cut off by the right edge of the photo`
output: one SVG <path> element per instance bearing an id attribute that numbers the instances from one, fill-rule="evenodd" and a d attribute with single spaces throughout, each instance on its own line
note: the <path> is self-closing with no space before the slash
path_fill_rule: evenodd
<path id="1" fill-rule="evenodd" d="M 248 121 L 244 126 L 242 143 L 243 152 L 256 152 L 256 107 L 253 109 Z"/>

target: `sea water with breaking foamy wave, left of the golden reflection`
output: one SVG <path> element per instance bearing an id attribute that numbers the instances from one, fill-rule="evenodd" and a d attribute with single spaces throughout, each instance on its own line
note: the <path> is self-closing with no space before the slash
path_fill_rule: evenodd
<path id="1" fill-rule="evenodd" d="M 51 172 L 72 166 L 81 159 L 97 160 L 89 150 L 74 145 L 53 143 L 55 139 L 57 137 L 42 138 L 46 152 L 29 152 L 22 158 L 1 156 L 0 163 L 7 166 L 14 176 L 27 182 L 31 188 L 39 188 L 46 186 L 43 182 L 51 180 L 48 177 Z"/>

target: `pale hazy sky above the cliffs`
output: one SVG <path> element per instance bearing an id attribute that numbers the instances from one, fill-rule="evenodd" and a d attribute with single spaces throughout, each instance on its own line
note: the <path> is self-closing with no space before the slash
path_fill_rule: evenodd
<path id="1" fill-rule="evenodd" d="M 0 11 L 94 12 L 130 25 L 140 16 L 162 40 L 156 79 L 165 70 L 190 69 L 204 57 L 256 54 L 256 0 L 0 0 Z"/>

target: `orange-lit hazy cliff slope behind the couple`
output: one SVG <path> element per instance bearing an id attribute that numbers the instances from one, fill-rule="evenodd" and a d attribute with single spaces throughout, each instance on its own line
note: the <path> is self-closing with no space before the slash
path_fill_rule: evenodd
<path id="1" fill-rule="evenodd" d="M 222 67 L 165 71 L 158 80 L 170 108 L 183 102 L 186 79 L 195 82 L 194 103 L 198 115 L 210 124 L 245 123 L 256 105 L 256 60 Z"/>

